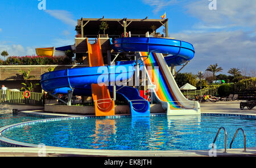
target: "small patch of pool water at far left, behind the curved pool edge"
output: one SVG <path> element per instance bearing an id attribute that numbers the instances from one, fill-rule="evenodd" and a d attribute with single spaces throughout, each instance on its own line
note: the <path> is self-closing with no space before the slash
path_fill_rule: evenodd
<path id="1" fill-rule="evenodd" d="M 11 124 L 27 122 L 30 120 L 42 119 L 39 117 L 28 117 L 26 115 L 13 115 L 12 113 L 0 114 L 0 127 L 8 126 Z M 0 143 L 0 147 L 3 147 Z"/>

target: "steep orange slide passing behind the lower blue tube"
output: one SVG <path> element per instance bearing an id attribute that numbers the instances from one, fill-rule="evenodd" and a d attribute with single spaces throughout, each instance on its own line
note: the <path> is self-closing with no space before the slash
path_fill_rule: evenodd
<path id="1" fill-rule="evenodd" d="M 90 44 L 87 38 L 87 47 L 90 67 L 104 66 L 100 40 L 97 39 L 95 44 Z M 109 89 L 105 84 L 92 84 L 92 97 L 96 116 L 115 115 L 115 102 L 110 97 Z"/>

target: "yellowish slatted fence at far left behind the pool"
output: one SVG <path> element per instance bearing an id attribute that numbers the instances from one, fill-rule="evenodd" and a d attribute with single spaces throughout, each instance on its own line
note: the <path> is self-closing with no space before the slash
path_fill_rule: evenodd
<path id="1" fill-rule="evenodd" d="M 0 91 L 0 103 L 43 105 L 43 93 L 30 93 L 30 97 L 25 98 L 24 92 Z"/>

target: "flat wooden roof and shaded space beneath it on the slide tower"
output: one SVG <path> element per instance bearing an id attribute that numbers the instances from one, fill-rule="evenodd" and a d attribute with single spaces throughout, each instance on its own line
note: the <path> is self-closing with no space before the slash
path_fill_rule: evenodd
<path id="1" fill-rule="evenodd" d="M 100 24 L 102 21 L 106 21 L 109 28 L 106 30 L 108 35 L 122 35 L 123 33 L 123 21 L 126 20 L 126 31 L 131 32 L 132 35 L 145 35 L 146 32 L 152 32 L 151 26 L 155 25 L 156 29 L 164 25 L 168 19 L 93 19 L 93 18 L 81 18 L 78 20 L 78 24 L 84 25 L 83 33 L 84 37 L 90 37 L 93 35 L 102 34 L 100 30 Z"/>

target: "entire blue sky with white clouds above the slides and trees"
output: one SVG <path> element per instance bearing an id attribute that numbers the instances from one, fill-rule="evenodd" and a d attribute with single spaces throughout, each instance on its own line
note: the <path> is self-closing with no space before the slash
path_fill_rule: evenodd
<path id="1" fill-rule="evenodd" d="M 209 9 L 209 0 L 45 1 L 46 10 L 39 10 L 38 0 L 0 1 L 0 51 L 32 55 L 38 47 L 74 44 L 81 17 L 160 19 L 166 12 L 170 37 L 191 42 L 196 50 L 181 72 L 195 74 L 218 63 L 223 74 L 233 67 L 255 74 L 255 0 L 211 0 L 216 10 Z"/>

